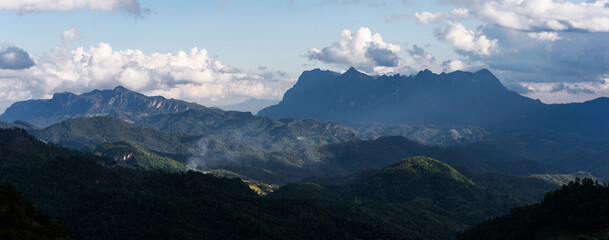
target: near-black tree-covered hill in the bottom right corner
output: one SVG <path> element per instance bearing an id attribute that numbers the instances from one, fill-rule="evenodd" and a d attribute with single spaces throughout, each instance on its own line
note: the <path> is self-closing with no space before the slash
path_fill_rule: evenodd
<path id="1" fill-rule="evenodd" d="M 459 234 L 457 240 L 588 237 L 609 238 L 609 186 L 577 179 L 548 193 L 541 203 L 511 209 Z"/>

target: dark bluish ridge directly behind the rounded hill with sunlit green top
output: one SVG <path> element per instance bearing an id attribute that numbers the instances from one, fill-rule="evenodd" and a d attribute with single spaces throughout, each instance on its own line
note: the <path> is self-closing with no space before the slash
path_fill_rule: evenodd
<path id="1" fill-rule="evenodd" d="M 311 169 L 321 175 L 332 176 L 379 169 L 403 158 L 414 156 L 429 156 L 452 166 L 465 166 L 482 172 L 518 175 L 566 172 L 559 167 L 501 150 L 426 146 L 401 136 L 354 140 L 291 152 L 271 152 L 265 158 L 269 163 L 298 166 Z"/>

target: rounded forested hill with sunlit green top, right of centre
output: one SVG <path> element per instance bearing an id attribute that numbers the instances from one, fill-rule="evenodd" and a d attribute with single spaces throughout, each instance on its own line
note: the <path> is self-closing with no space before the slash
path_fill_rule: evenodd
<path id="1" fill-rule="evenodd" d="M 341 216 L 423 239 L 451 239 L 457 231 L 522 203 L 427 157 L 334 180 L 345 183 L 288 184 L 269 196 L 315 199 Z"/>

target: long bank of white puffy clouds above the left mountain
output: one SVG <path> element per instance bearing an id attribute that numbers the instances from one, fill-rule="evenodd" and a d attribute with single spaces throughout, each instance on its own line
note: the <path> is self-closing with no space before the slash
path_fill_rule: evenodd
<path id="1" fill-rule="evenodd" d="M 114 50 L 99 43 L 88 49 L 56 47 L 35 56 L 36 65 L 0 70 L 0 107 L 53 93 L 111 89 L 117 85 L 147 95 L 162 95 L 204 105 L 226 105 L 248 98 L 280 99 L 293 82 L 281 72 L 243 72 L 211 57 L 205 49 L 176 53 Z"/>

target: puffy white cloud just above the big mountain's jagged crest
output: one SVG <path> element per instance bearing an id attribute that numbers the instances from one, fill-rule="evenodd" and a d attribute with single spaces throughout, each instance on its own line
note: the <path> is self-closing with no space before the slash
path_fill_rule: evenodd
<path id="1" fill-rule="evenodd" d="M 385 42 L 380 34 L 372 34 L 369 28 L 361 27 L 355 32 L 343 30 L 338 42 L 323 49 L 311 48 L 307 57 L 372 72 L 374 68 L 396 67 L 400 50 L 400 45 Z"/>

